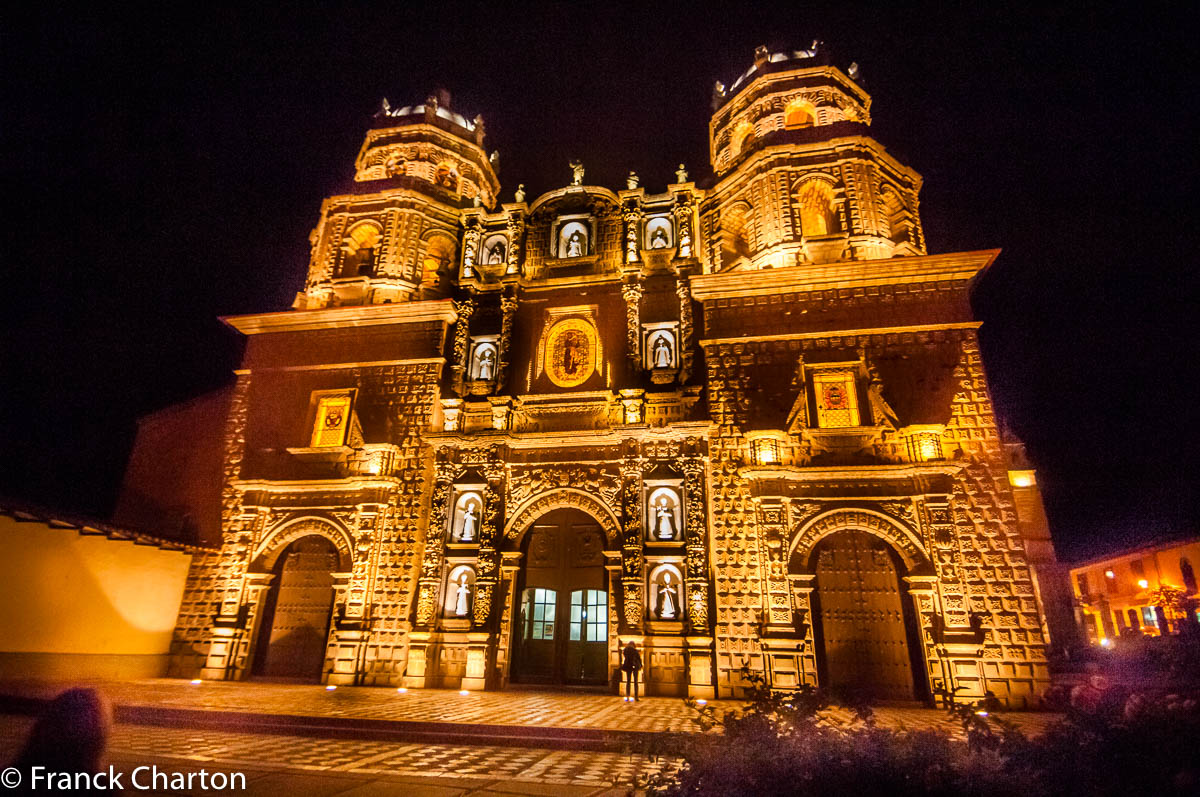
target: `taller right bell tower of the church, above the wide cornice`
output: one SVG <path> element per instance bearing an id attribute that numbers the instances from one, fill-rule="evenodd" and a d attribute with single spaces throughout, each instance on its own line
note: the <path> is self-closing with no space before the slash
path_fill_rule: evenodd
<path id="1" fill-rule="evenodd" d="M 871 138 L 870 124 L 858 66 L 834 66 L 821 42 L 760 47 L 728 88 L 718 83 L 706 271 L 924 254 L 920 175 Z"/>

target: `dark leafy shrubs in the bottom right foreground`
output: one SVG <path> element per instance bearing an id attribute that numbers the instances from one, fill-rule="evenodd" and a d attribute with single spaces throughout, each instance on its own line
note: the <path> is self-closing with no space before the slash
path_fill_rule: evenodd
<path id="1" fill-rule="evenodd" d="M 1194 700 L 1097 690 L 1037 738 L 996 717 L 995 701 L 948 699 L 961 735 L 880 727 L 869 707 L 826 691 L 778 691 L 744 672 L 750 703 L 698 707 L 701 733 L 665 737 L 682 767 L 648 784 L 659 795 L 1175 795 L 1195 793 Z M 1076 695 L 1076 697 L 1080 697 Z M 1091 696 L 1087 696 L 1091 697 Z"/>

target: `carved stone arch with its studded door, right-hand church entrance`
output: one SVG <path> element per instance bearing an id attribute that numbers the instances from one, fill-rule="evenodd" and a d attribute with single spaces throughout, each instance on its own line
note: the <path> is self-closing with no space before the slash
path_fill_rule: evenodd
<path id="1" fill-rule="evenodd" d="M 929 559 L 911 529 L 866 509 L 826 513 L 792 540 L 822 685 L 876 700 L 928 696 L 925 652 L 907 587 Z"/>

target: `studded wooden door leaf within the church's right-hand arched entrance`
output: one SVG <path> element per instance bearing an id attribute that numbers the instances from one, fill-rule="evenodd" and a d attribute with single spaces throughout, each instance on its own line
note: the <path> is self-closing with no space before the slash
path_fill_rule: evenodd
<path id="1" fill-rule="evenodd" d="M 828 685 L 878 700 L 913 700 L 900 579 L 887 544 L 839 532 L 816 549 L 818 621 Z"/>

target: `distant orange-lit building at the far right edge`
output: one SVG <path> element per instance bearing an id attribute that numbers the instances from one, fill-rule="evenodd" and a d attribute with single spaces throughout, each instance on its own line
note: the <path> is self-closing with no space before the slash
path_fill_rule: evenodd
<path id="1" fill-rule="evenodd" d="M 1147 545 L 1070 569 L 1080 624 L 1092 645 L 1176 634 L 1196 622 L 1200 538 Z M 1190 615 L 1190 617 L 1189 617 Z"/>

